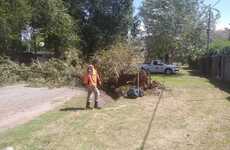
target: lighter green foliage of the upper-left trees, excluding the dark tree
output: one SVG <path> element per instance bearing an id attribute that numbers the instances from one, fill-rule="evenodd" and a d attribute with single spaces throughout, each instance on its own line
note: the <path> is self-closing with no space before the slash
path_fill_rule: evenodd
<path id="1" fill-rule="evenodd" d="M 0 2 L 1 53 L 23 49 L 22 31 L 32 28 L 32 50 L 38 39 L 43 39 L 46 49 L 61 51 L 78 45 L 76 25 L 62 0 L 17 0 Z"/>

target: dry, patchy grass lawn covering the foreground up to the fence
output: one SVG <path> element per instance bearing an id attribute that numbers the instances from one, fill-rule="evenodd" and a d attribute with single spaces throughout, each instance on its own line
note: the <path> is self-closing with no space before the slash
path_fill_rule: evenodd
<path id="1" fill-rule="evenodd" d="M 85 97 L 78 97 L 0 133 L 0 150 L 230 149 L 228 85 L 220 89 L 221 84 L 189 70 L 153 79 L 169 89 L 156 114 L 156 96 L 120 99 L 102 110 L 83 110 Z"/>

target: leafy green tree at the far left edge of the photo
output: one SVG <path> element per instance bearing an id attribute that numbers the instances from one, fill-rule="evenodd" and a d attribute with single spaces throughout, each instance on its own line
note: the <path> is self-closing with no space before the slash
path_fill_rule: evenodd
<path id="1" fill-rule="evenodd" d="M 30 0 L 0 1 L 0 53 L 21 49 L 21 31 L 30 20 Z"/>

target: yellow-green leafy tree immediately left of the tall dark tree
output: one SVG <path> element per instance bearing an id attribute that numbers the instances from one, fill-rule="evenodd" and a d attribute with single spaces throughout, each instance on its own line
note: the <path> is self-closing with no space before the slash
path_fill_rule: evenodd
<path id="1" fill-rule="evenodd" d="M 77 44 L 73 18 L 62 0 L 33 0 L 32 8 L 35 41 L 43 40 L 45 47 L 57 56 L 63 49 Z"/>

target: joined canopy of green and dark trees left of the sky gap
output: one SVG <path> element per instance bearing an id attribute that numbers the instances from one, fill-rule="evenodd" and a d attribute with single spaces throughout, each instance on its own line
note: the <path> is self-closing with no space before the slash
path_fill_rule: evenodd
<path id="1" fill-rule="evenodd" d="M 1 53 L 25 50 L 24 36 L 32 50 L 44 42 L 57 55 L 69 47 L 91 55 L 127 37 L 132 5 L 133 0 L 0 1 Z"/>

